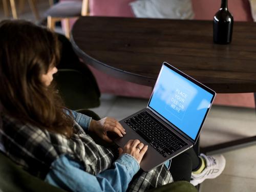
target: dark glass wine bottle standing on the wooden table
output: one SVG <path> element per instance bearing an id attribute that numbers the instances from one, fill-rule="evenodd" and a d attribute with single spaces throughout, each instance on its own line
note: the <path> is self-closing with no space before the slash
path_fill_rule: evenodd
<path id="1" fill-rule="evenodd" d="M 221 8 L 214 16 L 214 42 L 229 44 L 232 39 L 233 16 L 227 9 L 227 0 L 221 1 Z"/>

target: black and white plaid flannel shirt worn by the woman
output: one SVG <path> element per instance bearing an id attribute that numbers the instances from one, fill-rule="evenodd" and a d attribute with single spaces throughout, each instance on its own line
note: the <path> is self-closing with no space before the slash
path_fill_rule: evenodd
<path id="1" fill-rule="evenodd" d="M 44 179 L 51 163 L 68 154 L 84 166 L 84 171 L 97 175 L 111 167 L 118 157 L 117 149 L 98 145 L 74 121 L 74 134 L 70 139 L 63 135 L 39 129 L 29 123 L 2 114 L 0 129 L 6 154 L 31 174 Z M 127 191 L 144 191 L 173 182 L 169 170 L 160 165 L 150 172 L 134 176 Z"/>

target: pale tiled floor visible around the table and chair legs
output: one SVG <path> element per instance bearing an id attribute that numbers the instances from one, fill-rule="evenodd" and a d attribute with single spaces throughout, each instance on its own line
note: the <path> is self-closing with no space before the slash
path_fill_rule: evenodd
<path id="1" fill-rule="evenodd" d="M 35 21 L 28 3 L 19 18 Z M 48 1 L 37 0 L 39 13 L 42 16 L 49 7 Z M 0 3 L 0 20 L 5 19 L 2 2 Z M 99 108 L 92 109 L 99 116 L 112 116 L 120 120 L 146 106 L 147 100 L 116 97 L 103 94 Z M 256 115 L 253 109 L 213 106 L 201 133 L 201 146 L 256 135 Z M 226 152 L 226 167 L 223 174 L 206 180 L 200 190 L 205 192 L 238 192 L 256 191 L 256 144 Z"/>

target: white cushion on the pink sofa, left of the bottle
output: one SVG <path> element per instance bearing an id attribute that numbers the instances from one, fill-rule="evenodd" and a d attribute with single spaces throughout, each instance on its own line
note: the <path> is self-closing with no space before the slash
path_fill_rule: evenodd
<path id="1" fill-rule="evenodd" d="M 141 18 L 193 19 L 191 0 L 138 0 L 130 3 L 134 15 Z"/>

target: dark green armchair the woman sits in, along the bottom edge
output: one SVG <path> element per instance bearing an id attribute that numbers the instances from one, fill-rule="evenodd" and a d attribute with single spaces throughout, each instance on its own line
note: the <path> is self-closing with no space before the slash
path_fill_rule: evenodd
<path id="1" fill-rule="evenodd" d="M 0 191 L 1 192 L 65 192 L 27 173 L 0 152 Z M 186 181 L 164 185 L 151 192 L 196 192 L 197 189 Z"/>

